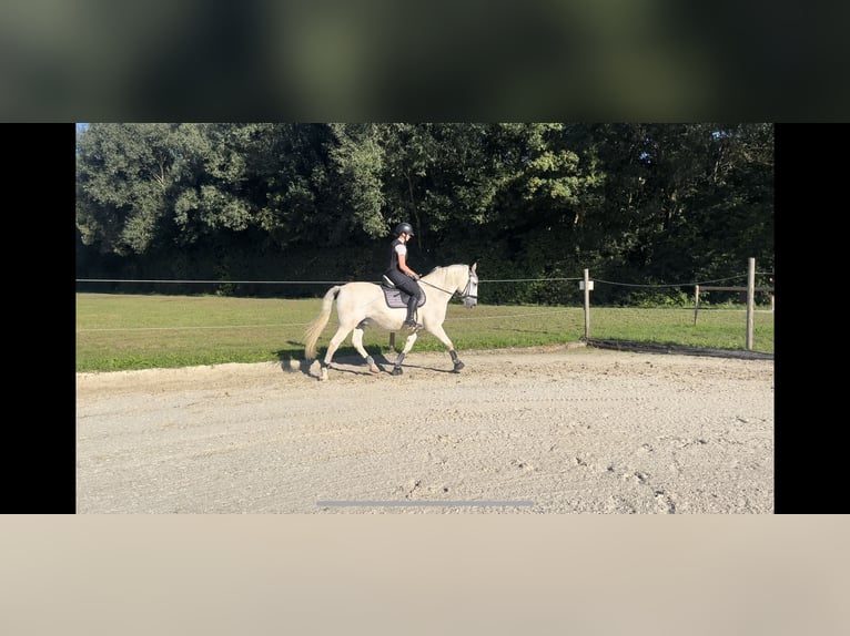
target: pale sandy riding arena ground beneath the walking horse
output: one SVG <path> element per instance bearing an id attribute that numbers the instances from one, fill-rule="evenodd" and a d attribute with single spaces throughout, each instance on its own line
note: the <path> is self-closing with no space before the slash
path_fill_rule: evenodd
<path id="1" fill-rule="evenodd" d="M 77 375 L 78 513 L 772 513 L 773 361 L 585 347 Z M 386 360 L 383 367 L 388 371 Z"/>

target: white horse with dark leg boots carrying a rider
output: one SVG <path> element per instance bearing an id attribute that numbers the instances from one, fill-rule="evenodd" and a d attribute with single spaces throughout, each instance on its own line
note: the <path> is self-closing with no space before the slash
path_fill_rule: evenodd
<path id="1" fill-rule="evenodd" d="M 469 265 L 448 265 L 446 267 L 435 267 L 433 271 L 419 278 L 419 286 L 425 293 L 425 302 L 417 309 L 417 318 L 423 328 L 439 339 L 448 348 L 452 356 L 454 371 L 457 372 L 464 368 L 464 363 L 457 358 L 457 351 L 452 340 L 443 330 L 443 321 L 446 319 L 446 307 L 449 299 L 459 294 L 464 305 L 472 309 L 478 302 L 478 275 L 475 271 L 477 264 Z M 399 290 L 393 290 L 398 296 Z M 324 361 L 322 365 L 321 380 L 327 379 L 327 369 L 331 367 L 336 349 L 340 347 L 348 332 L 352 334 L 352 345 L 357 349 L 363 359 L 368 365 L 373 373 L 381 372 L 381 368 L 375 365 L 375 360 L 363 348 L 363 329 L 365 327 L 377 327 L 387 331 L 403 330 L 407 309 L 404 298 L 396 300 L 391 307 L 392 294 L 384 289 L 383 285 L 374 283 L 347 283 L 332 287 L 325 294 L 322 300 L 322 312 L 307 325 L 305 331 L 304 357 L 307 361 L 316 358 L 316 341 L 322 330 L 331 318 L 334 300 L 336 300 L 336 317 L 340 326 L 336 329 L 331 342 L 327 345 Z M 411 351 L 416 338 L 417 331 L 412 331 L 404 342 L 404 348 L 396 357 L 393 376 L 402 375 L 402 360 Z"/>

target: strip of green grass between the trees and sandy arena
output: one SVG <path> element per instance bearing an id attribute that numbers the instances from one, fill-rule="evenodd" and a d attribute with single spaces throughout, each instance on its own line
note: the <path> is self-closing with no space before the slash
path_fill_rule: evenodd
<path id="1" fill-rule="evenodd" d="M 304 329 L 317 314 L 317 298 L 282 300 L 219 296 L 77 295 L 77 371 L 192 367 L 223 362 L 273 362 L 304 358 Z M 753 316 L 752 350 L 773 353 L 773 314 Z M 332 314 L 318 340 L 320 355 L 335 330 Z M 577 342 L 585 335 L 581 307 L 448 305 L 444 324 L 458 351 Z M 743 306 L 692 308 L 594 308 L 590 337 L 605 340 L 746 349 Z M 402 343 L 402 336 L 396 343 Z M 372 355 L 393 355 L 385 331 L 367 329 Z M 444 351 L 421 332 L 414 351 Z M 336 357 L 356 355 L 346 339 Z"/>

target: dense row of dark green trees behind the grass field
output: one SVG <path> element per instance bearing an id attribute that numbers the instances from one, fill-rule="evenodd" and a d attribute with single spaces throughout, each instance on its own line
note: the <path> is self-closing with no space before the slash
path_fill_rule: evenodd
<path id="1" fill-rule="evenodd" d="M 377 280 L 392 228 L 408 222 L 419 271 L 475 260 L 485 283 L 588 268 L 634 284 L 600 287 L 596 301 L 669 301 L 684 290 L 666 285 L 741 284 L 749 257 L 772 270 L 773 133 L 767 123 L 92 123 L 77 135 L 77 275 L 318 295 L 251 281 Z M 487 300 L 563 302 L 574 290 L 493 286 Z"/>

